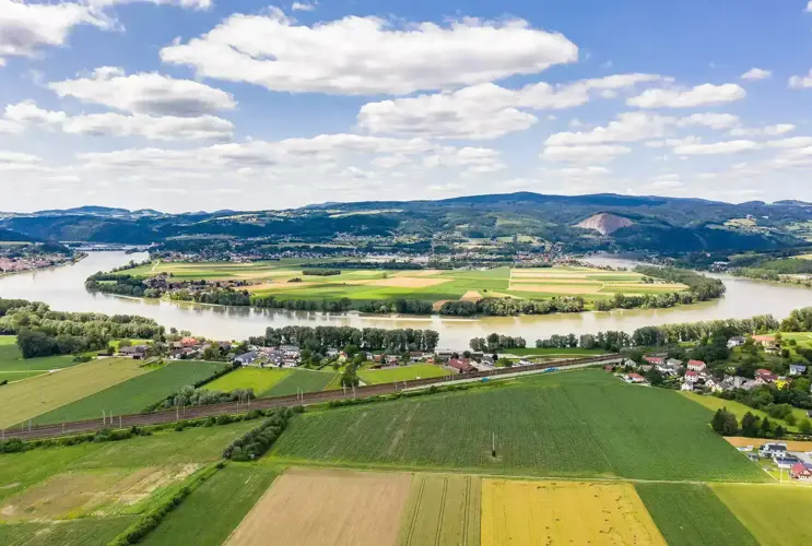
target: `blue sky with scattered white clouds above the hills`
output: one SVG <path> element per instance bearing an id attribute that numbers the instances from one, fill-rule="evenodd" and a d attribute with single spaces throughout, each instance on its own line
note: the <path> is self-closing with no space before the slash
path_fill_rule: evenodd
<path id="1" fill-rule="evenodd" d="M 812 1 L 0 0 L 0 211 L 812 201 Z"/>

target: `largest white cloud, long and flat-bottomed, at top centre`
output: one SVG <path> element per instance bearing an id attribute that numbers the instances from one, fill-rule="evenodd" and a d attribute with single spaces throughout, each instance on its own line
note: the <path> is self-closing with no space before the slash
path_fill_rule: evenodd
<path id="1" fill-rule="evenodd" d="M 161 50 L 198 75 L 272 91 L 408 94 L 536 74 L 574 62 L 578 48 L 523 20 L 466 17 L 446 25 L 348 16 L 298 25 L 279 9 L 234 14 L 208 34 Z"/>

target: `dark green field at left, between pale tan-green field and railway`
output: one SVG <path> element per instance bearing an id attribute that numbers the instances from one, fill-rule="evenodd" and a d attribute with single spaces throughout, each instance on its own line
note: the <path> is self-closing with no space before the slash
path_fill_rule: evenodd
<path id="1" fill-rule="evenodd" d="M 122 383 L 63 405 L 33 419 L 35 425 L 140 413 L 188 384 L 202 381 L 227 365 L 197 360 L 170 361 Z M 146 368 L 149 369 L 149 368 Z M 226 376 L 227 377 L 227 376 Z"/>

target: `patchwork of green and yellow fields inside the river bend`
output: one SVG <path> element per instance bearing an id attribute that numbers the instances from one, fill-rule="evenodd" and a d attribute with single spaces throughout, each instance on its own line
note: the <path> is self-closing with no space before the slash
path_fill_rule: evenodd
<path id="1" fill-rule="evenodd" d="M 340 266 L 340 265 L 339 265 Z M 282 260 L 254 263 L 167 262 L 131 270 L 133 275 L 172 273 L 176 280 L 250 281 L 254 294 L 278 299 L 340 299 L 372 301 L 412 298 L 438 302 L 476 300 L 491 295 L 528 299 L 582 296 L 608 299 L 616 293 L 662 294 L 683 290 L 681 284 L 644 283 L 634 272 L 593 268 L 492 270 L 346 270 L 330 276 L 305 275 L 307 262 Z M 298 278 L 299 282 L 290 281 Z"/>

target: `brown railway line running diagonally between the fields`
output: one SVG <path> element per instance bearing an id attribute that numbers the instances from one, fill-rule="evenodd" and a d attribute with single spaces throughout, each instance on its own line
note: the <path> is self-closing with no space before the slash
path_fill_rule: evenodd
<path id="1" fill-rule="evenodd" d="M 217 415 L 233 415 L 248 413 L 251 410 L 267 410 L 279 406 L 290 405 L 310 405 L 331 402 L 334 400 L 360 399 L 377 396 L 379 394 L 391 394 L 407 389 L 419 387 L 428 387 L 437 383 L 451 383 L 478 378 L 491 378 L 507 375 L 516 375 L 533 370 L 546 370 L 550 368 L 568 369 L 581 368 L 585 366 L 597 366 L 599 364 L 616 363 L 621 355 L 610 354 L 593 358 L 579 358 L 572 360 L 561 360 L 557 363 L 532 364 L 529 366 L 517 366 L 510 368 L 495 368 L 486 371 L 472 371 L 469 373 L 459 373 L 449 377 L 437 377 L 426 379 L 415 379 L 412 381 L 396 381 L 393 383 L 373 384 L 367 387 L 357 387 L 337 391 L 318 391 L 304 394 L 290 394 L 286 396 L 273 396 L 268 399 L 255 399 L 250 402 L 225 404 L 212 404 L 207 406 L 189 406 L 185 408 L 173 408 L 154 413 L 142 413 L 132 415 L 117 415 L 107 417 L 103 424 L 101 419 L 77 420 L 58 425 L 37 425 L 27 427 L 25 424 L 20 427 L 5 429 L 0 432 L 0 439 L 20 438 L 22 440 L 37 438 L 52 438 L 58 436 L 70 436 L 84 432 L 95 432 L 102 428 L 129 428 L 131 426 L 149 426 L 173 423 L 179 419 L 198 419 Z M 99 413 L 103 408 L 99 408 Z"/>

